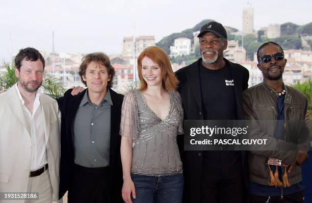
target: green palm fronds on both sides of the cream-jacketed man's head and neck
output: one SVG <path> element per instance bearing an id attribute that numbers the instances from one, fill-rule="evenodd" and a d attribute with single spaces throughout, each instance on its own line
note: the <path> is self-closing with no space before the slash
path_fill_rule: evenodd
<path id="1" fill-rule="evenodd" d="M 9 89 L 17 82 L 17 78 L 15 76 L 14 62 L 4 62 L 4 67 L 6 71 L 0 73 L 0 90 Z M 50 73 L 43 74 L 43 82 L 41 88 L 46 95 L 53 98 L 59 98 L 63 96 L 65 92 L 62 82 Z"/>

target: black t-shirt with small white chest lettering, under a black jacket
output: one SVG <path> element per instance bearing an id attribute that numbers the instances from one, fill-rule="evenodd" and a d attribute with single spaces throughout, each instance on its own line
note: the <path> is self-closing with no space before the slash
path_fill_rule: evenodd
<path id="1" fill-rule="evenodd" d="M 237 119 L 234 81 L 228 65 L 211 70 L 200 63 L 199 75 L 204 120 Z M 203 158 L 215 164 L 215 171 L 230 174 L 234 170 L 237 175 L 241 173 L 240 151 L 203 151 Z"/>

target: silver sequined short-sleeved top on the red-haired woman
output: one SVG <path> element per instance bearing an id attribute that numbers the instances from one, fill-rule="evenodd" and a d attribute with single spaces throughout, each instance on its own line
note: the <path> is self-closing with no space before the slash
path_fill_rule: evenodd
<path id="1" fill-rule="evenodd" d="M 170 175 L 183 172 L 176 135 L 183 134 L 180 94 L 169 93 L 169 113 L 161 120 L 144 102 L 139 90 L 126 93 L 122 104 L 120 135 L 135 140 L 131 172 Z"/>

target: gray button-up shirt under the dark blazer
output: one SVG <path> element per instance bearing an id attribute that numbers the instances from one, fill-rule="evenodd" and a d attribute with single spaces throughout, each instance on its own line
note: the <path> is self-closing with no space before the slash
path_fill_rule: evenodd
<path id="1" fill-rule="evenodd" d="M 112 105 L 109 89 L 98 106 L 90 102 L 86 91 L 72 126 L 75 164 L 89 168 L 109 165 Z"/>

